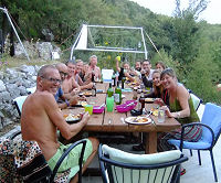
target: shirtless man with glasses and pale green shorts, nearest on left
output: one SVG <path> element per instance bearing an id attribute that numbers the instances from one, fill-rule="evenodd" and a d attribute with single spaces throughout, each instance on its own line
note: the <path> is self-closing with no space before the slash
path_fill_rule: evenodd
<path id="1" fill-rule="evenodd" d="M 55 161 L 63 153 L 64 146 L 59 143 L 56 130 L 59 129 L 65 139 L 71 139 L 77 134 L 87 123 L 90 115 L 86 112 L 77 123 L 69 125 L 54 99 L 54 95 L 60 86 L 61 76 L 59 71 L 52 65 L 45 65 L 40 68 L 36 77 L 36 90 L 30 95 L 22 106 L 21 132 L 22 139 L 36 141 L 44 154 L 50 168 L 53 170 Z M 88 166 L 97 152 L 98 141 L 95 138 L 88 138 L 84 154 L 83 171 Z M 71 168 L 78 165 L 77 147 L 72 150 L 65 161 L 70 162 Z M 62 163 L 63 169 L 67 169 Z M 65 166 L 65 168 L 64 168 Z M 72 169 L 73 170 L 73 169 Z M 72 174 L 73 173 L 73 174 Z M 72 172 L 71 182 L 77 181 L 76 172 Z"/>

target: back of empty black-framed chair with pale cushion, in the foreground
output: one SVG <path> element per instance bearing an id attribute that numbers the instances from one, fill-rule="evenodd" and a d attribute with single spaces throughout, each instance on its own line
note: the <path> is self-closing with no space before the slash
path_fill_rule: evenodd
<path id="1" fill-rule="evenodd" d="M 107 146 L 99 146 L 99 164 L 103 182 L 176 182 L 179 179 L 179 164 L 187 161 L 180 158 L 179 150 L 156 154 L 133 154 Z"/>

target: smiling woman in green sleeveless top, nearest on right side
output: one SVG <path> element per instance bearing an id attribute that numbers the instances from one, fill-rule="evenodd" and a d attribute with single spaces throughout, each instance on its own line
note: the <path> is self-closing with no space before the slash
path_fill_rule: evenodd
<path id="1" fill-rule="evenodd" d="M 160 75 L 162 86 L 169 93 L 169 108 L 162 106 L 161 108 L 166 111 L 166 115 L 170 118 L 176 118 L 181 125 L 198 122 L 199 117 L 193 108 L 192 99 L 189 92 L 183 85 L 179 85 L 175 72 L 171 68 L 162 71 Z M 194 126 L 186 128 L 185 140 L 198 141 L 201 137 L 201 127 Z M 181 128 L 158 136 L 158 151 L 171 150 L 175 147 L 168 143 L 168 139 L 180 139 Z"/>

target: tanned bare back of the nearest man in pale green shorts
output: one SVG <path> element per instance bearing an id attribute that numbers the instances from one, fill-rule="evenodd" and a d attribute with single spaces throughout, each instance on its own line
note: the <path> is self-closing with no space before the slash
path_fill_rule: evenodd
<path id="1" fill-rule="evenodd" d="M 56 127 L 46 114 L 48 103 L 51 103 L 48 100 L 50 99 L 53 99 L 53 95 L 48 92 L 34 93 L 29 96 L 23 104 L 21 116 L 22 138 L 30 141 L 35 140 L 46 160 L 49 160 L 59 148 Z"/>

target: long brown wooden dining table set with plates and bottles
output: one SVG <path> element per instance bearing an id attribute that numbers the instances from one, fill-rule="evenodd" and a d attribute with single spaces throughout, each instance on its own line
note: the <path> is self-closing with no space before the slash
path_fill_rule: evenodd
<path id="1" fill-rule="evenodd" d="M 127 85 L 125 87 L 128 87 Z M 108 89 L 107 83 L 97 83 L 96 89 L 99 93 L 96 96 L 87 97 L 86 100 L 90 104 L 94 104 L 95 106 L 99 106 L 105 104 L 106 101 L 106 90 Z M 125 89 L 123 95 L 125 96 L 123 103 L 125 100 L 133 99 L 133 93 L 129 89 Z M 156 104 L 146 104 L 146 110 L 150 110 L 152 107 L 157 107 Z M 82 112 L 84 109 L 81 107 L 71 107 L 67 109 L 63 109 L 63 114 L 73 114 L 77 115 Z M 129 111 L 127 112 L 118 112 L 117 110 L 113 110 L 112 112 L 106 111 L 106 108 L 103 114 L 93 114 L 90 117 L 87 125 L 83 128 L 83 131 L 86 132 L 144 132 L 146 133 L 146 142 L 145 142 L 145 153 L 155 153 L 157 152 L 157 133 L 166 132 L 180 127 L 180 123 L 175 118 L 165 118 L 165 122 L 158 122 L 157 117 L 151 115 L 150 118 L 152 122 L 148 125 L 130 125 L 126 123 L 124 120 L 131 116 Z"/>

